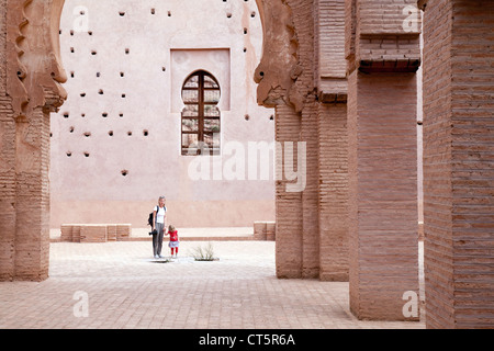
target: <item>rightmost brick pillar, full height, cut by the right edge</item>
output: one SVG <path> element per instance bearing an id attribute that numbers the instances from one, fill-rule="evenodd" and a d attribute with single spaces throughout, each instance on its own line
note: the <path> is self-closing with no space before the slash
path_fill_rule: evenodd
<path id="1" fill-rule="evenodd" d="M 494 2 L 418 3 L 426 326 L 493 328 Z"/>

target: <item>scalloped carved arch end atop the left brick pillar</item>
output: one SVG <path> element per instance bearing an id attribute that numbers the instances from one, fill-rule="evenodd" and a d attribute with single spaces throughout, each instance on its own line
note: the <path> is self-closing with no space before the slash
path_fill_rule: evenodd
<path id="1" fill-rule="evenodd" d="M 58 42 L 65 0 L 8 2 L 8 94 L 14 116 L 29 120 L 35 109 L 56 111 L 67 98 Z"/>

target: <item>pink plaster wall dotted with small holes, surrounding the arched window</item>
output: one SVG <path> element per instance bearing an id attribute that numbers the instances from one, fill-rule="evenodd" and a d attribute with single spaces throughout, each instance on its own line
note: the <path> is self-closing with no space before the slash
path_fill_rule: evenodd
<path id="1" fill-rule="evenodd" d="M 52 115 L 52 227 L 144 227 L 159 195 L 179 226 L 273 220 L 273 177 L 194 180 L 193 157 L 180 155 L 179 89 L 197 69 L 222 89 L 215 163 L 232 167 L 249 141 L 274 138 L 273 111 L 256 103 L 262 31 L 255 1 L 67 0 L 60 31 L 68 99 Z"/>

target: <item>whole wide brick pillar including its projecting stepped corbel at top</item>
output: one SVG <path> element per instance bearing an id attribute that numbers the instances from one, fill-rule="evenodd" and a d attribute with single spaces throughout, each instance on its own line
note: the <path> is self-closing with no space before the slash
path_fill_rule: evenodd
<path id="1" fill-rule="evenodd" d="M 418 11 L 409 3 L 346 3 L 350 309 L 359 319 L 418 319 L 418 306 L 403 312 L 404 294 L 418 296 L 420 53 Z"/>

